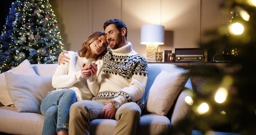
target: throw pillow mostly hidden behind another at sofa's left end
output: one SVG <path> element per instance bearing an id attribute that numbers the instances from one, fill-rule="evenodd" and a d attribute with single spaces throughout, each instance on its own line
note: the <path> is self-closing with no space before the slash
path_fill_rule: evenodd
<path id="1" fill-rule="evenodd" d="M 23 75 L 37 75 L 28 60 L 24 60 L 20 65 L 7 72 Z M 14 105 L 6 87 L 5 73 L 0 74 L 0 80 L 0 102 L 5 106 Z"/>

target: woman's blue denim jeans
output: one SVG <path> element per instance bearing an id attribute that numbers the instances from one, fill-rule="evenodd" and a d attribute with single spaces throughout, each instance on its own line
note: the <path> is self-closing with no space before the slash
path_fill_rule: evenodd
<path id="1" fill-rule="evenodd" d="M 41 113 L 44 115 L 43 135 L 69 131 L 69 109 L 75 102 L 77 95 L 73 89 L 51 92 L 43 98 L 41 102 Z"/>

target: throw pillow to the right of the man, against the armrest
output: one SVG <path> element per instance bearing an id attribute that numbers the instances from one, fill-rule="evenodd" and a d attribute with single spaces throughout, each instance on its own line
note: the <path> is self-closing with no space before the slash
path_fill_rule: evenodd
<path id="1" fill-rule="evenodd" d="M 167 115 L 179 92 L 184 88 L 190 70 L 170 73 L 165 70 L 155 78 L 146 101 L 146 110 L 158 115 Z"/>

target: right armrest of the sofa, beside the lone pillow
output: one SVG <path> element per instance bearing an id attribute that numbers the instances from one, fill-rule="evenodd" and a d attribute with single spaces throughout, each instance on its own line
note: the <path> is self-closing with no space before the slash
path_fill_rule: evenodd
<path id="1" fill-rule="evenodd" d="M 177 99 L 177 102 L 174 106 L 171 122 L 173 128 L 178 126 L 180 120 L 185 119 L 188 116 L 190 111 L 190 105 L 185 102 L 185 97 L 190 96 L 192 97 L 192 90 L 191 89 L 184 89 Z"/>

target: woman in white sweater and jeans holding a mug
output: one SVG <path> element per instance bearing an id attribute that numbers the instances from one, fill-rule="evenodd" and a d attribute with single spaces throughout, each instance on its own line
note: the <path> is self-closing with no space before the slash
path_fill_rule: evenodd
<path id="1" fill-rule="evenodd" d="M 70 59 L 65 65 L 58 65 L 52 77 L 56 90 L 48 93 L 41 103 L 43 135 L 68 134 L 70 106 L 97 95 L 100 86 L 95 80 L 102 69 L 100 59 L 106 47 L 105 33 L 96 31 L 85 40 L 81 50 L 65 53 Z"/>

